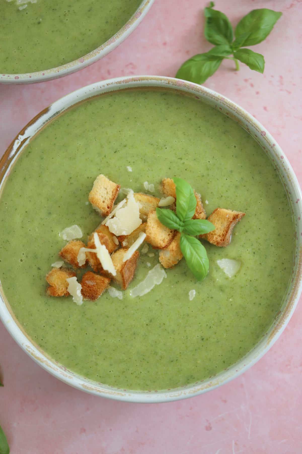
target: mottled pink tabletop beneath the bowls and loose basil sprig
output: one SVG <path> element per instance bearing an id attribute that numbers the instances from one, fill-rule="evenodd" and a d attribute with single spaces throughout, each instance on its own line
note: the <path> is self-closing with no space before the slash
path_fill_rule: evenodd
<path id="1" fill-rule="evenodd" d="M 187 5 L 180 7 L 181 3 Z M 174 76 L 211 44 L 203 38 L 205 1 L 156 0 L 111 54 L 62 79 L 0 86 L 1 146 L 64 94 L 110 77 Z M 283 16 L 265 42 L 264 75 L 225 60 L 205 83 L 240 104 L 273 134 L 302 183 L 302 1 L 217 1 L 233 24 L 267 7 Z M 207 394 L 168 404 L 129 404 L 74 390 L 42 370 L 0 324 L 0 424 L 12 454 L 302 453 L 302 304 L 273 348 L 244 375 Z"/>

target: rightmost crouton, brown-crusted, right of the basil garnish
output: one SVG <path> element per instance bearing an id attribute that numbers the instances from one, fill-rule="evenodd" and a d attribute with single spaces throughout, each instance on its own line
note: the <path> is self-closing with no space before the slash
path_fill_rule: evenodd
<path id="1" fill-rule="evenodd" d="M 208 221 L 215 225 L 215 230 L 204 235 L 200 235 L 215 246 L 225 247 L 230 244 L 233 228 L 237 222 L 244 217 L 245 213 L 241 211 L 226 210 L 225 208 L 216 208 L 208 217 Z"/>

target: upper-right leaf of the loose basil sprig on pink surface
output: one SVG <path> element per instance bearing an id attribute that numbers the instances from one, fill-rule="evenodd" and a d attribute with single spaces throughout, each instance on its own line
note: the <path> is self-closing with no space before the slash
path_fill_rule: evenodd
<path id="1" fill-rule="evenodd" d="M 267 8 L 251 11 L 237 24 L 236 39 L 239 39 L 240 35 L 244 33 L 249 33 L 241 46 L 253 46 L 261 43 L 273 30 L 273 26 L 281 16 L 282 13 Z"/>

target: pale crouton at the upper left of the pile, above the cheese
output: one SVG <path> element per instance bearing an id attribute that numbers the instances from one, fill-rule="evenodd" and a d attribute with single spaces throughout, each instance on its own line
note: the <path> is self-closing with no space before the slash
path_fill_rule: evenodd
<path id="1" fill-rule="evenodd" d="M 120 191 L 120 185 L 113 183 L 105 175 L 96 177 L 88 200 L 92 207 L 101 214 L 108 216 Z"/>

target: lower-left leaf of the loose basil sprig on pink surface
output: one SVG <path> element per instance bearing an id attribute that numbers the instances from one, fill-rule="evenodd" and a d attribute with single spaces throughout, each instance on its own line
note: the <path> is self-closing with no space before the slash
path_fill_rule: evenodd
<path id="1" fill-rule="evenodd" d="M 222 60 L 222 57 L 208 53 L 194 55 L 182 64 L 175 77 L 195 82 L 195 84 L 203 84 L 208 77 L 217 71 Z"/>

